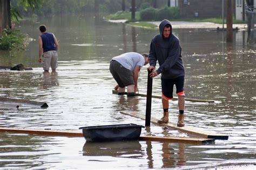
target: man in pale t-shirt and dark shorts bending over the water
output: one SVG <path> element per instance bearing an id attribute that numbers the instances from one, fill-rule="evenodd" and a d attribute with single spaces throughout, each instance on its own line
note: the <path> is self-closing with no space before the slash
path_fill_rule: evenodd
<path id="1" fill-rule="evenodd" d="M 127 96 L 135 96 L 138 92 L 139 71 L 144 65 L 149 63 L 149 56 L 140 55 L 137 52 L 127 52 L 120 56 L 113 57 L 109 70 L 113 78 L 117 81 L 118 94 L 125 94 L 127 86 Z"/>

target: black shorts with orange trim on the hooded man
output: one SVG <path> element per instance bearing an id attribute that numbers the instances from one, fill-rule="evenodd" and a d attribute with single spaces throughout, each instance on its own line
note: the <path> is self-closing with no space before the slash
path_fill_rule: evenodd
<path id="1" fill-rule="evenodd" d="M 184 78 L 185 76 L 180 76 L 174 79 L 161 79 L 162 86 L 162 97 L 167 100 L 173 98 L 173 86 L 176 86 L 176 93 L 179 96 L 185 96 L 184 94 Z"/>

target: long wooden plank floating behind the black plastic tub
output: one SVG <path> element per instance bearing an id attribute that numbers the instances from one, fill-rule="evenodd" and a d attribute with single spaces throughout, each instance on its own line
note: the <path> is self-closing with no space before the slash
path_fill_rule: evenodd
<path id="1" fill-rule="evenodd" d="M 83 132 L 76 132 L 76 131 L 32 130 L 32 129 L 24 129 L 24 128 L 0 127 L 0 132 L 53 135 L 53 136 L 65 136 L 65 137 L 83 137 Z M 206 144 L 206 143 L 214 142 L 214 139 L 206 139 L 206 138 L 152 137 L 152 136 L 140 136 L 139 140 L 182 142 L 187 144 Z"/>

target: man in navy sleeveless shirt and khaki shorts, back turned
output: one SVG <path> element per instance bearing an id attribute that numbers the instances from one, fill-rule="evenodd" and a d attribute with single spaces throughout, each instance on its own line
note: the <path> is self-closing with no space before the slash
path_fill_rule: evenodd
<path id="1" fill-rule="evenodd" d="M 42 62 L 42 52 L 43 52 L 43 69 L 44 72 L 49 72 L 50 66 L 51 70 L 55 71 L 58 66 L 58 41 L 53 35 L 53 33 L 46 32 L 46 26 L 40 25 L 39 30 L 42 35 L 39 36 L 39 58 L 38 62 Z"/>

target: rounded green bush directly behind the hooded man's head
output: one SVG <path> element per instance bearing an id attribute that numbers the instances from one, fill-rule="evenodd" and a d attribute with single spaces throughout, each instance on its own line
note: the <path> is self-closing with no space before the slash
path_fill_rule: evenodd
<path id="1" fill-rule="evenodd" d="M 179 18 L 179 9 L 177 7 L 165 7 L 157 12 L 157 19 L 177 19 Z"/>

